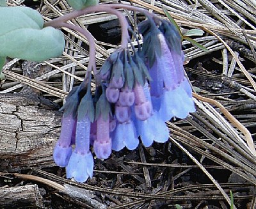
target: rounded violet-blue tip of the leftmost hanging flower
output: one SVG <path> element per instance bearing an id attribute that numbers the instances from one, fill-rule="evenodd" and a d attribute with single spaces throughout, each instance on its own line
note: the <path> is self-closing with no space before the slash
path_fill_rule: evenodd
<path id="1" fill-rule="evenodd" d="M 60 142 L 58 141 L 53 151 L 53 160 L 57 166 L 65 167 L 68 164 L 71 153 L 71 146 L 61 146 Z"/>

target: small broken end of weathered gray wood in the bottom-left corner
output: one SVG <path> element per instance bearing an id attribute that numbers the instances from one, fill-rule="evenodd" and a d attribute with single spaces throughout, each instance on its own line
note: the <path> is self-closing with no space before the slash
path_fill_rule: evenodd
<path id="1" fill-rule="evenodd" d="M 37 185 L 1 188 L 0 208 L 44 208 L 44 199 Z"/>

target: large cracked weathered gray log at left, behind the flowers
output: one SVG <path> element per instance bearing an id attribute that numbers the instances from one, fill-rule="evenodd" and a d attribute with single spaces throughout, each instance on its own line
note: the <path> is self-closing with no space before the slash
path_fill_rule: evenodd
<path id="1" fill-rule="evenodd" d="M 0 170 L 54 166 L 60 123 L 60 112 L 36 95 L 0 95 Z"/>

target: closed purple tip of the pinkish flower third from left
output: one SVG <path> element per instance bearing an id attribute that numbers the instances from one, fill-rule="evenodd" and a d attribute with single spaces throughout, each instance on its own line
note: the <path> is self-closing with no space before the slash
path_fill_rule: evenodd
<path id="1" fill-rule="evenodd" d="M 98 140 L 95 140 L 93 143 L 93 150 L 97 158 L 99 159 L 108 159 L 111 154 L 111 139 L 100 143 Z"/>

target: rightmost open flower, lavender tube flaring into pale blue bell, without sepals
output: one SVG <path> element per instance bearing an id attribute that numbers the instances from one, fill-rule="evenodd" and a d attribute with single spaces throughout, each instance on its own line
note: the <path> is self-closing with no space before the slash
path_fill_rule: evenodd
<path id="1" fill-rule="evenodd" d="M 183 56 L 181 49 L 169 49 L 163 35 L 159 35 L 162 56 L 157 61 L 163 65 L 164 93 L 159 114 L 164 120 L 173 116 L 186 118 L 189 112 L 195 112 L 192 89 L 184 75 Z M 169 59 L 167 59 L 169 58 Z M 171 70 L 172 69 L 172 70 Z"/>

